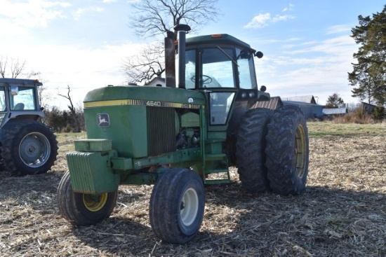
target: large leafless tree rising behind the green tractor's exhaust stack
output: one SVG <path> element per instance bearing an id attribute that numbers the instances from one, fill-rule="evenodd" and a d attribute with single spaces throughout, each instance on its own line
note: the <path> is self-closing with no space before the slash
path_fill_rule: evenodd
<path id="1" fill-rule="evenodd" d="M 164 35 L 177 39 L 173 28 L 186 24 L 199 30 L 208 21 L 218 16 L 218 0 L 142 0 L 132 4 L 136 15 L 131 27 L 138 36 L 154 37 Z M 149 55 L 149 57 L 146 57 Z M 129 82 L 148 81 L 165 71 L 163 42 L 152 44 L 139 55 L 128 57 L 124 70 Z"/>

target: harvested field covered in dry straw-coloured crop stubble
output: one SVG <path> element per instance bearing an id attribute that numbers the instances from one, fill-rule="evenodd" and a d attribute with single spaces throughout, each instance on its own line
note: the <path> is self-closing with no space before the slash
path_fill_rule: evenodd
<path id="1" fill-rule="evenodd" d="M 69 225 L 56 189 L 65 153 L 84 134 L 58 134 L 52 172 L 0 173 L 0 256 L 386 256 L 386 124 L 308 123 L 310 172 L 298 196 L 206 186 L 204 222 L 185 245 L 149 226 L 152 186 L 121 186 L 110 218 Z"/>

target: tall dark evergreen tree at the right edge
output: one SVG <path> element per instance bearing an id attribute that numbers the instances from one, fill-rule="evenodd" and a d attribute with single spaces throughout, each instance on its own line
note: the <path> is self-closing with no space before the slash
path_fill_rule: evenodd
<path id="1" fill-rule="evenodd" d="M 349 73 L 354 87 L 353 97 L 367 100 L 369 104 L 386 104 L 386 5 L 381 13 L 363 17 L 359 15 L 359 26 L 352 29 L 352 38 L 360 44 Z"/>

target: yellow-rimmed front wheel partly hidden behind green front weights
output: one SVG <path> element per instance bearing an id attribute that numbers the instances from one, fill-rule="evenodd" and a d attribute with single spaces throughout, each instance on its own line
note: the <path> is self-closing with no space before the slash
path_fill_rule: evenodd
<path id="1" fill-rule="evenodd" d="M 69 172 L 66 172 L 58 186 L 58 208 L 60 214 L 74 225 L 93 225 L 112 214 L 117 195 L 117 190 L 100 195 L 75 193 Z"/>

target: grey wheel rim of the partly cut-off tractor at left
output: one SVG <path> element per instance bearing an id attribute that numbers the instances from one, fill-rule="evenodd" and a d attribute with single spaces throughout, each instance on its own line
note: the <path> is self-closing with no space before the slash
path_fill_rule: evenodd
<path id="1" fill-rule="evenodd" d="M 29 167 L 41 167 L 51 153 L 51 144 L 44 134 L 32 132 L 22 138 L 19 145 L 19 156 Z"/>

